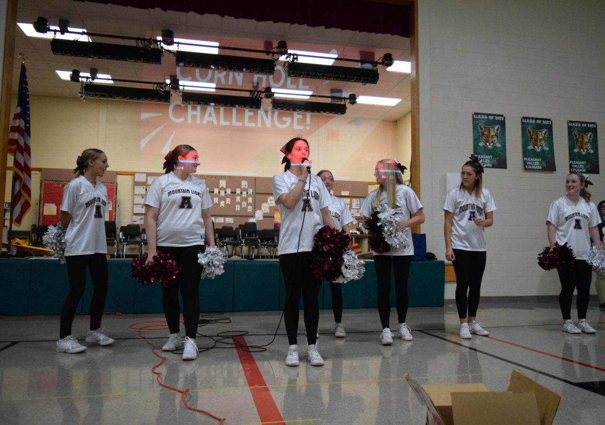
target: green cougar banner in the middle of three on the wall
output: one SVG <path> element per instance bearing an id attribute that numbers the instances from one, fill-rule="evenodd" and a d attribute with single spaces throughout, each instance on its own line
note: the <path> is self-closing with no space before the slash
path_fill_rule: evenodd
<path id="1" fill-rule="evenodd" d="M 557 170 L 551 119 L 521 117 L 521 143 L 525 170 Z"/>

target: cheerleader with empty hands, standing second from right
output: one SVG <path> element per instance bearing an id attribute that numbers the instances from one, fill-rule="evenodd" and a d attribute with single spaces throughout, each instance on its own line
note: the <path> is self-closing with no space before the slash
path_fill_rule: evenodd
<path id="1" fill-rule="evenodd" d="M 445 259 L 456 273 L 460 338 L 470 339 L 471 334 L 489 335 L 475 319 L 486 262 L 485 228 L 494 224 L 495 203 L 483 188 L 483 165 L 476 156 L 465 162 L 460 177 L 460 186 L 445 197 L 443 233 Z"/>

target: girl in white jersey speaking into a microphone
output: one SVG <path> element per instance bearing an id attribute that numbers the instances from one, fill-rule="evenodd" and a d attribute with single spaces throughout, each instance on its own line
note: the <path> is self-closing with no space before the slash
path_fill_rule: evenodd
<path id="1" fill-rule="evenodd" d="M 273 197 L 280 208 L 281 228 L 278 257 L 286 285 L 284 324 L 288 334 L 287 366 L 298 366 L 298 305 L 302 295 L 307 330 L 307 354 L 312 366 L 324 359 L 317 351 L 319 289 L 321 279 L 310 269 L 313 237 L 324 225 L 335 227 L 328 206 L 332 197 L 319 177 L 310 173 L 309 142 L 294 137 L 281 148 L 284 173 L 271 180 Z"/>

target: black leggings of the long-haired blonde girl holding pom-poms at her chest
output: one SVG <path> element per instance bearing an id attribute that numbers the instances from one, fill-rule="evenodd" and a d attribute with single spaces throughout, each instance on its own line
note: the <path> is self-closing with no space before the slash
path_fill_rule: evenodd
<path id="1" fill-rule="evenodd" d="M 378 314 L 382 328 L 390 328 L 391 315 L 391 266 L 395 277 L 395 296 L 398 323 L 405 323 L 408 314 L 408 278 L 411 255 L 374 255 L 374 269 L 378 283 Z"/>

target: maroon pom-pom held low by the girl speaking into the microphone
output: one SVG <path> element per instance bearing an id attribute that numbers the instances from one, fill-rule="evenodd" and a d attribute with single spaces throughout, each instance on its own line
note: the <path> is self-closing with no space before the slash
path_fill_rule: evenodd
<path id="1" fill-rule="evenodd" d="M 334 282 L 341 277 L 342 254 L 348 249 L 351 237 L 344 230 L 324 226 L 315 235 L 311 251 L 311 270 L 322 280 Z"/>

